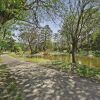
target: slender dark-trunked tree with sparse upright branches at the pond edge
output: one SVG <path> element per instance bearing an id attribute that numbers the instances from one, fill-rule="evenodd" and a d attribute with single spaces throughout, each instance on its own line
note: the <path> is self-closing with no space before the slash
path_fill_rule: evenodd
<path id="1" fill-rule="evenodd" d="M 72 63 L 76 63 L 75 53 L 84 35 L 90 34 L 99 24 L 98 0 L 69 0 L 64 17 L 62 34 L 70 38 Z"/>

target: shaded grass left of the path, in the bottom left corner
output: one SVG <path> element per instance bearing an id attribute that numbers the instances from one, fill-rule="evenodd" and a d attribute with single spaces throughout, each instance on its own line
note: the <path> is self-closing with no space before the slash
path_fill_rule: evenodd
<path id="1" fill-rule="evenodd" d="M 23 100 L 16 80 L 9 73 L 6 65 L 0 66 L 0 100 Z"/>

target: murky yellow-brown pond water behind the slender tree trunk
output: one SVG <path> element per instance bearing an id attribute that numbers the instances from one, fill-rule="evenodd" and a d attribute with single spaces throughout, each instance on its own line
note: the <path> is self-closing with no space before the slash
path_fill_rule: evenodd
<path id="1" fill-rule="evenodd" d="M 50 60 L 59 60 L 59 61 L 66 61 L 71 62 L 70 55 L 45 55 L 42 58 L 50 59 Z M 98 67 L 100 68 L 100 57 L 87 57 L 87 56 L 77 56 L 76 60 L 79 64 L 88 65 L 90 67 Z"/>

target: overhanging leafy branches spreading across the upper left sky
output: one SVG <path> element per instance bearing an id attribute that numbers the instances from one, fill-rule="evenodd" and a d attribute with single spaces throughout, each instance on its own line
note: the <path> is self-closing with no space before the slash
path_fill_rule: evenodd
<path id="1" fill-rule="evenodd" d="M 0 0 L 0 25 L 11 19 L 38 24 L 39 19 L 58 15 L 62 8 L 61 0 Z M 27 13 L 28 14 L 27 14 Z M 27 18 L 26 18 L 27 16 Z"/>

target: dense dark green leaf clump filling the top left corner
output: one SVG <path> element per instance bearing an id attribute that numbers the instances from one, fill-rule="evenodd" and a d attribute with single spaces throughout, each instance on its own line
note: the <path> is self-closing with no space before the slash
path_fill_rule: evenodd
<path id="1" fill-rule="evenodd" d="M 24 0 L 0 0 L 0 24 L 18 17 L 20 11 L 25 7 Z"/>

